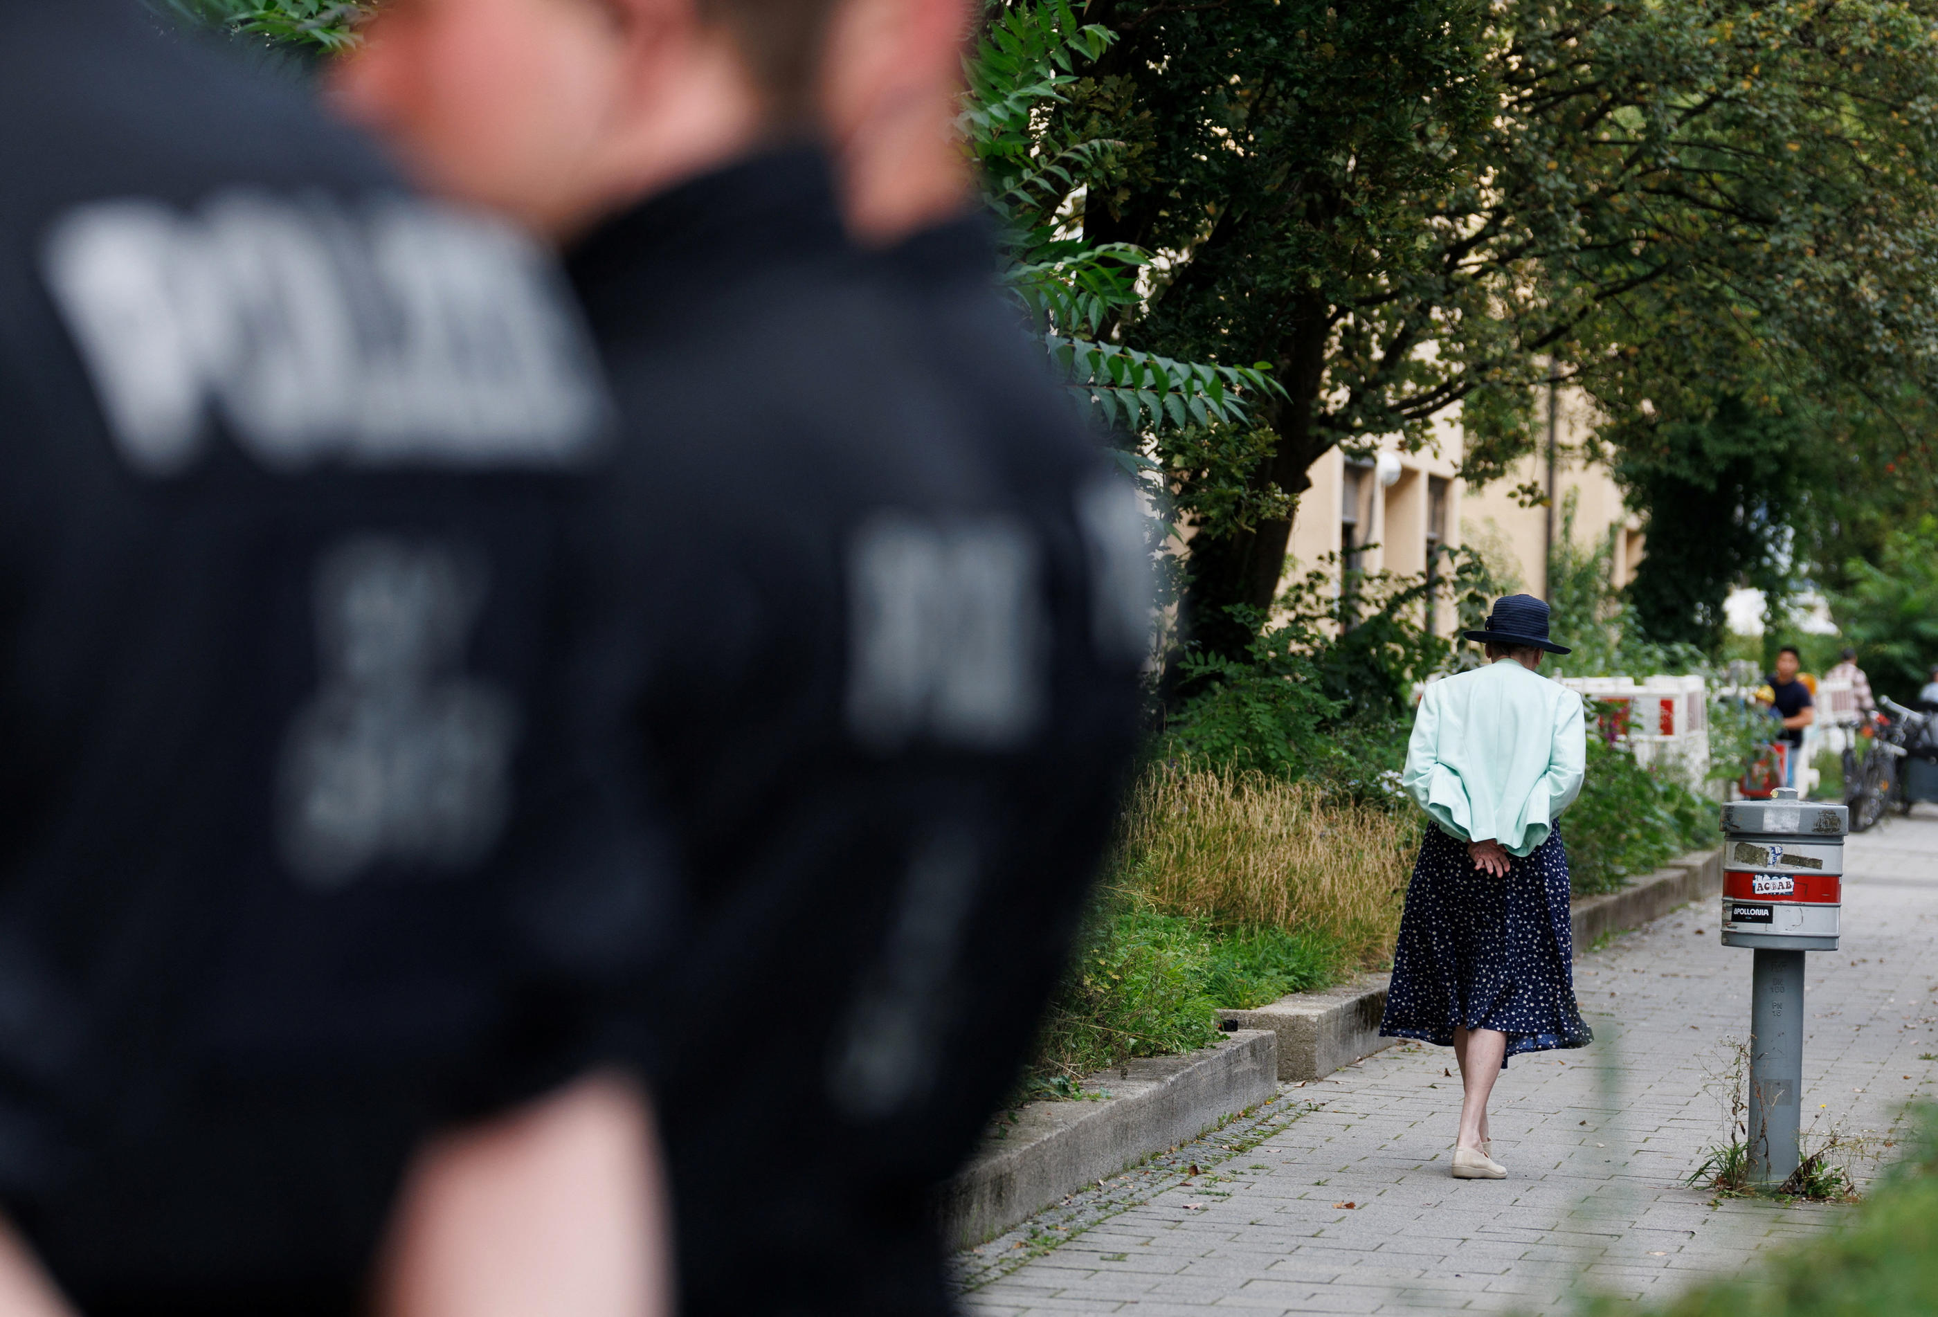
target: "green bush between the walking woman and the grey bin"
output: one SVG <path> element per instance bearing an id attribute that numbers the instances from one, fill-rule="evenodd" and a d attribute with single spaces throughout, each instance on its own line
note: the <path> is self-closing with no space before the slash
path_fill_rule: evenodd
<path id="1" fill-rule="evenodd" d="M 1713 800 L 1591 732 L 1581 796 L 1560 817 L 1574 895 L 1616 891 L 1678 854 L 1715 846 L 1717 825 Z"/>

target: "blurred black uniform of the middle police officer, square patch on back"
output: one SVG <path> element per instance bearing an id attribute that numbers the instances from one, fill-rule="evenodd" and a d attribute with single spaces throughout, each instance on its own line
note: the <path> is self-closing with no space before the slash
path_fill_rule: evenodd
<path id="1" fill-rule="evenodd" d="M 568 265 L 634 432 L 612 653 L 659 655 L 640 744 L 692 883 L 655 1075 L 682 1311 L 944 1313 L 930 1191 L 1012 1079 L 1128 759 L 1138 660 L 1095 643 L 1076 511 L 1105 475 L 1068 411 L 1041 465 L 992 447 L 1008 413 L 938 380 L 955 331 L 847 250 L 812 153 L 653 198 Z M 981 378 L 1047 397 L 1029 372 Z M 1008 918 L 1019 974 L 988 963 Z"/>

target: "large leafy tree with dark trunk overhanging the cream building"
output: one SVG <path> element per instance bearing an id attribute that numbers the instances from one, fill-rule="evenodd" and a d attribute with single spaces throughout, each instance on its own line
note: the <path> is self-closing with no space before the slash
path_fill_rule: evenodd
<path id="1" fill-rule="evenodd" d="M 1932 368 L 1930 0 L 1093 0 L 1066 122 L 1132 143 L 1083 232 L 1157 252 L 1138 333 L 1266 360 L 1254 480 L 1529 442 L 1531 383 L 1696 420 L 1746 378 Z M 1775 362 L 1781 370 L 1771 368 Z M 1760 399 L 1752 399 L 1762 405 Z M 1289 523 L 1194 542 L 1194 616 L 1266 606 Z"/>

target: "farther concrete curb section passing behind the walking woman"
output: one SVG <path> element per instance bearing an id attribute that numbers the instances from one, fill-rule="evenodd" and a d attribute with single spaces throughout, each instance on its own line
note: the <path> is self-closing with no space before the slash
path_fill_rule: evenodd
<path id="1" fill-rule="evenodd" d="M 1678 904 L 1719 891 L 1723 891 L 1721 846 L 1694 850 L 1622 891 L 1574 901 L 1568 922 L 1574 926 L 1576 955 L 1603 934 L 1641 928 Z M 1219 1011 L 1219 1019 L 1236 1028 L 1275 1032 L 1279 1079 L 1324 1079 L 1341 1065 L 1401 1042 L 1380 1036 L 1388 978 L 1388 974 L 1362 974 L 1328 992 L 1298 992 L 1250 1011 Z"/>

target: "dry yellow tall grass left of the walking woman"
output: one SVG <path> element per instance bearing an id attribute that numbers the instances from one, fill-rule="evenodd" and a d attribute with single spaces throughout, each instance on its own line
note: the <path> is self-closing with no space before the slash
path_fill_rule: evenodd
<path id="1" fill-rule="evenodd" d="M 1124 810 L 1120 881 L 1165 914 L 1269 924 L 1386 965 L 1419 846 L 1411 817 L 1262 773 L 1159 765 Z"/>

